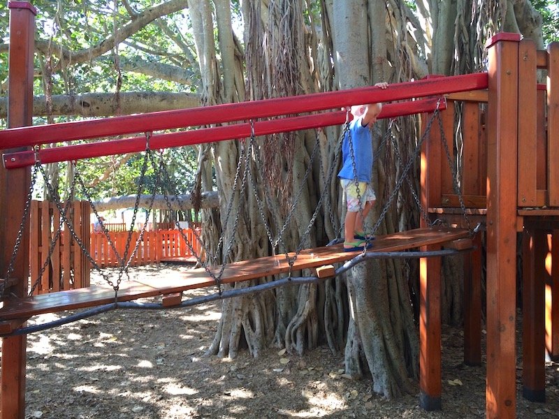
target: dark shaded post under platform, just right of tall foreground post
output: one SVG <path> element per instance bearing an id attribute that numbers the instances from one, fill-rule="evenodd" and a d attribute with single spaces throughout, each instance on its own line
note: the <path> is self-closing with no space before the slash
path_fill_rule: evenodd
<path id="1" fill-rule="evenodd" d="M 546 234 L 525 228 L 522 237 L 522 395 L 530 402 L 545 402 L 545 258 Z"/>

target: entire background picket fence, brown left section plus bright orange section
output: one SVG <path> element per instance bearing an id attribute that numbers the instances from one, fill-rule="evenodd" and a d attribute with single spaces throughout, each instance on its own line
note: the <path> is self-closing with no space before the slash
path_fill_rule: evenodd
<path id="1" fill-rule="evenodd" d="M 67 226 L 60 228 L 57 237 L 60 227 L 60 212 L 55 203 L 31 201 L 29 272 L 34 294 L 89 286 L 92 263 L 82 247 L 85 247 L 99 267 L 118 267 L 120 265 L 106 235 L 92 231 L 89 214 L 90 207 L 87 201 L 75 201 L 68 208 L 67 217 L 71 220 L 75 236 L 82 242 L 82 246 L 80 246 Z M 124 224 L 110 224 L 108 233 L 112 245 L 121 257 L 124 255 L 129 235 L 126 228 L 123 229 L 122 226 Z M 196 239 L 195 232 L 199 237 L 201 229 L 184 228 L 182 230 L 195 254 L 200 255 L 201 244 Z M 132 232 L 129 254 L 136 247 L 139 235 L 140 233 L 136 231 Z M 194 262 L 196 257 L 184 242 L 179 230 L 146 231 L 138 244 L 130 266 L 150 265 L 169 260 Z"/>

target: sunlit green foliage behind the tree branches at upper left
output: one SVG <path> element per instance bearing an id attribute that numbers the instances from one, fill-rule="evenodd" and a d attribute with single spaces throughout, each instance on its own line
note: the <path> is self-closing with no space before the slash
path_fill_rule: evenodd
<path id="1" fill-rule="evenodd" d="M 9 41 L 7 2 L 0 3 L 0 36 L 7 45 Z M 240 4 L 235 1 L 234 14 L 240 16 Z M 118 2 L 117 9 L 112 0 L 78 0 L 58 1 L 36 0 L 36 43 L 45 45 L 38 48 L 35 68 L 44 68 L 48 58 L 43 54 L 50 43 L 53 68 L 50 87 L 56 94 L 85 94 L 89 92 L 119 91 L 195 91 L 199 84 L 198 78 L 191 78 L 186 83 L 173 81 L 172 74 L 151 75 L 143 72 L 143 68 L 127 71 L 128 63 L 140 62 L 140 66 L 166 64 L 169 71 L 184 74 L 189 68 L 194 75 L 198 74 L 196 50 L 191 36 L 191 23 L 187 10 L 164 15 L 136 31 L 117 45 L 99 55 L 95 48 L 110 40 L 115 28 L 122 31 L 126 25 L 136 19 L 139 13 L 147 8 L 154 8 L 152 0 L 129 1 L 129 9 L 124 3 Z M 184 2 L 186 8 L 187 3 Z M 8 53 L 0 52 L 0 86 L 7 86 Z M 63 57 L 61 51 L 71 52 Z M 49 50 L 48 50 L 49 51 Z M 72 61 L 72 56 L 80 52 L 91 51 L 86 61 Z M 69 57 L 69 58 L 68 58 Z M 136 61 L 134 61 L 136 60 Z M 145 64 L 147 63 L 147 64 Z M 118 71 L 120 70 L 120 71 Z M 45 78 L 36 78 L 34 94 L 44 95 Z M 0 96 L 6 91 L 0 89 Z M 55 117 L 54 122 L 65 122 L 77 119 L 74 117 Z M 34 124 L 45 124 L 46 118 L 37 117 Z M 0 128 L 6 128 L 6 121 L 0 121 Z M 166 166 L 175 177 L 177 193 L 185 193 L 191 189 L 196 170 L 196 150 L 171 149 L 164 152 Z M 150 165 L 145 173 L 144 182 L 140 185 L 143 154 L 132 156 L 126 163 L 119 166 L 122 156 L 89 159 L 78 163 L 85 184 L 91 186 L 89 193 L 92 198 L 128 195 L 130 193 L 151 193 L 157 179 Z M 65 195 L 67 164 L 59 163 L 60 193 Z M 112 170 L 114 168 L 114 170 Z M 99 179 L 103 179 L 99 182 Z M 83 193 L 76 190 L 77 198 L 83 199 Z M 38 192 L 39 193 L 39 192 Z M 158 192 L 159 193 L 159 192 Z"/>

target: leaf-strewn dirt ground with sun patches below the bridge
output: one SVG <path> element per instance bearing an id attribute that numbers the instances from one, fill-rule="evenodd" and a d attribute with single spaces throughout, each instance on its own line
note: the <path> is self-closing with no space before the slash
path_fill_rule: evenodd
<path id="1" fill-rule="evenodd" d="M 256 360 L 204 358 L 218 319 L 219 303 L 120 310 L 29 335 L 26 418 L 485 417 L 485 368 L 463 364 L 461 330 L 444 328 L 442 411 L 426 412 L 417 395 L 386 400 L 371 394 L 370 377 L 345 378 L 342 353 L 326 346 L 302 357 L 272 348 Z M 518 394 L 518 418 L 559 417 L 559 364 L 547 363 L 546 378 L 547 402 Z"/>

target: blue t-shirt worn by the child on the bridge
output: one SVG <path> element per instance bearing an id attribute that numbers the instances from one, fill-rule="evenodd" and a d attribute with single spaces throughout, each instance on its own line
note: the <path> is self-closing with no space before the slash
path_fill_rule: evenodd
<path id="1" fill-rule="evenodd" d="M 344 135 L 342 141 L 342 170 L 337 177 L 354 180 L 357 173 L 359 182 L 371 182 L 372 172 L 372 140 L 368 126 L 361 126 L 361 118 L 356 118 L 349 123 L 349 135 Z M 353 145 L 354 159 L 351 159 L 349 138 Z M 355 161 L 355 168 L 353 161 Z"/>

